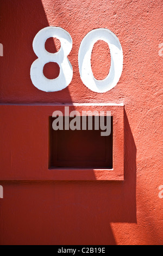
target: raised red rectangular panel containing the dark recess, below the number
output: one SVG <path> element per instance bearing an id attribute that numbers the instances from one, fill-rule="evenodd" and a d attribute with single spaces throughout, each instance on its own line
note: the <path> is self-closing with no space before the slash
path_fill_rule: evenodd
<path id="1" fill-rule="evenodd" d="M 2 150 L 2 158 L 9 159 L 7 163 L 10 163 L 8 152 L 12 151 L 13 145 L 21 148 L 22 157 L 20 150 L 15 150 L 12 159 L 12 167 L 15 168 L 14 173 L 19 180 L 124 181 L 124 139 L 129 138 L 128 133 L 124 136 L 127 118 L 124 118 L 123 103 L 4 104 L 0 107 L 3 130 L 1 144 L 8 148 Z M 56 116 L 54 112 L 73 116 L 73 111 L 78 112 L 78 116 L 84 116 L 84 112 L 89 115 L 89 112 L 95 111 L 111 116 L 111 135 L 101 136 L 101 130 L 89 130 L 87 127 L 85 130 L 74 131 L 53 130 L 52 116 Z M 31 123 L 33 126 L 29 129 Z M 8 138 L 10 127 L 15 130 L 12 141 Z M 0 162 L 3 166 L 4 163 Z M 5 163 L 3 167 L 5 172 L 2 172 L 2 180 L 13 179 L 10 164 Z"/>

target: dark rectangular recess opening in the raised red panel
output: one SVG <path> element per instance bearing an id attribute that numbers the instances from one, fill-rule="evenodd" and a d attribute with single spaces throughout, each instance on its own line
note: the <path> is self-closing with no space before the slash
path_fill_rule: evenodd
<path id="1" fill-rule="evenodd" d="M 113 168 L 113 117 L 111 116 L 111 133 L 102 136 L 103 130 L 95 130 L 95 116 L 92 117 L 92 130 L 89 130 L 87 116 L 86 130 L 54 130 L 52 123 L 55 120 L 49 117 L 49 169 L 112 169 Z M 69 122 L 73 118 L 69 118 Z M 104 117 L 106 126 L 106 116 Z M 77 171 L 78 171 L 77 170 Z"/>

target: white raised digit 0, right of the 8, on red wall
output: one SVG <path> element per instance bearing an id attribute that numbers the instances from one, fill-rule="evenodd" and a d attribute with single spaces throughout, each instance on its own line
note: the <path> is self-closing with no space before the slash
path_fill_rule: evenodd
<path id="1" fill-rule="evenodd" d="M 93 45 L 103 40 L 108 43 L 111 55 L 111 66 L 108 76 L 104 80 L 96 80 L 91 68 Z M 114 88 L 120 80 L 123 69 L 123 51 L 120 41 L 109 29 L 98 28 L 89 32 L 79 49 L 79 72 L 86 87 L 93 92 L 104 93 Z"/>

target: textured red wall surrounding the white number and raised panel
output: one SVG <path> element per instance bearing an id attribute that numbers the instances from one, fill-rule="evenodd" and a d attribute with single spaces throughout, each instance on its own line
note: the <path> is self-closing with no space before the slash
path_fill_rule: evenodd
<path id="1" fill-rule="evenodd" d="M 23 158 L 21 149 L 20 158 L 14 159 L 14 130 L 8 127 L 10 132 L 3 137 L 5 130 L 0 128 L 0 185 L 4 188 L 4 199 L 0 199 L 0 244 L 161 245 L 163 199 L 158 195 L 163 183 L 163 57 L 159 56 L 159 44 L 163 43 L 162 0 L 0 0 L 0 9 L 0 43 L 4 47 L 4 56 L 0 57 L 1 104 L 125 105 L 123 182 L 39 182 L 37 177 L 35 181 L 4 181 L 1 177 L 5 166 L 10 165 L 15 175 L 18 163 L 24 161 L 23 172 L 29 159 Z M 30 80 L 30 66 L 37 58 L 33 39 L 47 26 L 62 27 L 73 39 L 68 57 L 73 80 L 66 89 L 53 93 L 37 90 Z M 102 94 L 90 91 L 78 71 L 80 43 L 95 28 L 114 32 L 124 55 L 120 81 Z M 103 79 L 109 66 L 108 46 L 97 43 L 92 54 L 96 78 Z M 6 116 L 6 126 L 11 117 L 12 113 Z M 33 129 L 32 123 L 29 129 Z M 31 143 L 32 155 L 37 150 L 35 136 L 27 138 L 24 143 Z M 8 151 L 9 141 L 12 151 Z M 4 152 L 7 158 L 3 158 Z"/>

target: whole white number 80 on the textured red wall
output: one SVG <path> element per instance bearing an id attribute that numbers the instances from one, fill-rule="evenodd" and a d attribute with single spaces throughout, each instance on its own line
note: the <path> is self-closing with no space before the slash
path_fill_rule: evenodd
<path id="1" fill-rule="evenodd" d="M 59 39 L 61 43 L 60 50 L 56 53 L 49 53 L 45 49 L 46 40 L 51 37 Z M 91 68 L 92 49 L 98 40 L 105 41 L 110 48 L 110 72 L 104 80 L 96 80 Z M 33 49 L 38 58 L 31 66 L 30 77 L 36 88 L 45 92 L 57 92 L 70 85 L 73 69 L 67 56 L 72 50 L 72 38 L 65 29 L 60 27 L 41 29 L 34 38 Z M 120 41 L 109 29 L 98 28 L 89 32 L 80 44 L 78 58 L 80 78 L 87 88 L 93 92 L 104 93 L 117 85 L 123 70 L 123 51 Z M 43 67 L 49 62 L 56 62 L 60 67 L 60 74 L 56 79 L 47 79 L 43 75 Z"/>

